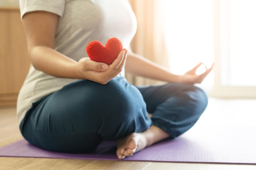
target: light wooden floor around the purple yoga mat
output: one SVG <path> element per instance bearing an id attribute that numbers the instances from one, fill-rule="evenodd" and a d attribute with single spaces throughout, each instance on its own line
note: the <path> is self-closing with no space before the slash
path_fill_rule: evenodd
<path id="1" fill-rule="evenodd" d="M 238 103 L 243 103 L 248 105 L 247 108 L 251 107 L 254 110 L 256 104 L 256 100 L 210 99 L 209 109 L 206 111 L 218 108 L 223 102 L 227 108 L 234 108 Z M 250 110 L 250 108 L 248 109 Z M 236 108 L 233 111 L 236 111 Z M 22 136 L 18 130 L 16 109 L 0 108 L 0 147 L 19 139 L 22 139 Z M 256 170 L 256 166 L 0 157 L 0 170 Z"/>

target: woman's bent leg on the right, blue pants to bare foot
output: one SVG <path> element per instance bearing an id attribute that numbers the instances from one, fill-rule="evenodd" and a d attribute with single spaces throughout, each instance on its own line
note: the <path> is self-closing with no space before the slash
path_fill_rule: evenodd
<path id="1" fill-rule="evenodd" d="M 191 84 L 138 87 L 147 104 L 153 125 L 143 132 L 119 139 L 117 157 L 132 156 L 158 141 L 175 138 L 191 128 L 204 112 L 208 99 L 201 88 Z"/>

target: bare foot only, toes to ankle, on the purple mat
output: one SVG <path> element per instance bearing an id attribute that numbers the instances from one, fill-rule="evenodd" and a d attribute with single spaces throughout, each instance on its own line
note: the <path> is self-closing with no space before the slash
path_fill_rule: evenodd
<path id="1" fill-rule="evenodd" d="M 140 133 L 131 133 L 125 138 L 117 140 L 117 157 L 124 159 L 147 146 L 146 138 Z"/>

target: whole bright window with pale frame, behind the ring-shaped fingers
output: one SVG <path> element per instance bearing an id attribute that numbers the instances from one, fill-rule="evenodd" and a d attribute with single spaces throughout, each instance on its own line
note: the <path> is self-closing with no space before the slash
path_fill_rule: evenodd
<path id="1" fill-rule="evenodd" d="M 256 1 L 162 0 L 173 73 L 215 68 L 200 85 L 211 96 L 256 97 Z"/>

